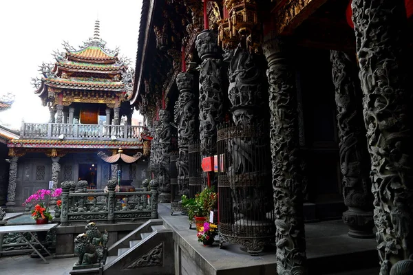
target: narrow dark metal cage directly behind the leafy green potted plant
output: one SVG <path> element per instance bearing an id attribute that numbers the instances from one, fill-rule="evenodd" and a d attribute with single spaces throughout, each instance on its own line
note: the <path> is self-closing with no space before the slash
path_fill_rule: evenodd
<path id="1" fill-rule="evenodd" d="M 201 144 L 194 142 L 189 144 L 189 198 L 202 191 L 202 167 L 201 167 Z"/>

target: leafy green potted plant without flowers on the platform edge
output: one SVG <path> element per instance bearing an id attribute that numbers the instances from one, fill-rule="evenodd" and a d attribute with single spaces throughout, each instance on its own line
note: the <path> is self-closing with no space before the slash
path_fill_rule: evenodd
<path id="1" fill-rule="evenodd" d="M 216 201 L 217 193 L 213 192 L 211 187 L 204 188 L 202 192 L 195 195 L 195 198 L 188 199 L 186 195 L 182 195 L 182 207 L 187 210 L 191 223 L 195 219 L 198 232 L 204 222 L 209 219 L 209 212 L 215 206 Z"/>

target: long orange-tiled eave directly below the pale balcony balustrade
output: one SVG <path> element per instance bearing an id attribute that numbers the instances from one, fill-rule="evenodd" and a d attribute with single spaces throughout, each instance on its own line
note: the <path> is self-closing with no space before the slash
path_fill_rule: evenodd
<path id="1" fill-rule="evenodd" d="M 112 140 L 10 140 L 7 146 L 12 148 L 143 148 L 142 142 Z"/>

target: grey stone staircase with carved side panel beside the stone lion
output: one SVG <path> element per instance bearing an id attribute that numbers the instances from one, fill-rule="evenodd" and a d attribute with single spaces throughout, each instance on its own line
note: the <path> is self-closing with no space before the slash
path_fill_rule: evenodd
<path id="1" fill-rule="evenodd" d="M 103 275 L 174 274 L 173 230 L 152 219 L 127 234 L 107 251 Z"/>

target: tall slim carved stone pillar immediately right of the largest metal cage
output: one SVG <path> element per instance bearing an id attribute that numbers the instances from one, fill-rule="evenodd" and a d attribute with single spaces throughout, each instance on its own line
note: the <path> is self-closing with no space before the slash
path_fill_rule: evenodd
<path id="1" fill-rule="evenodd" d="M 267 37 L 263 45 L 271 110 L 271 157 L 275 199 L 278 274 L 307 274 L 303 195 L 299 155 L 295 74 L 283 41 Z"/>

